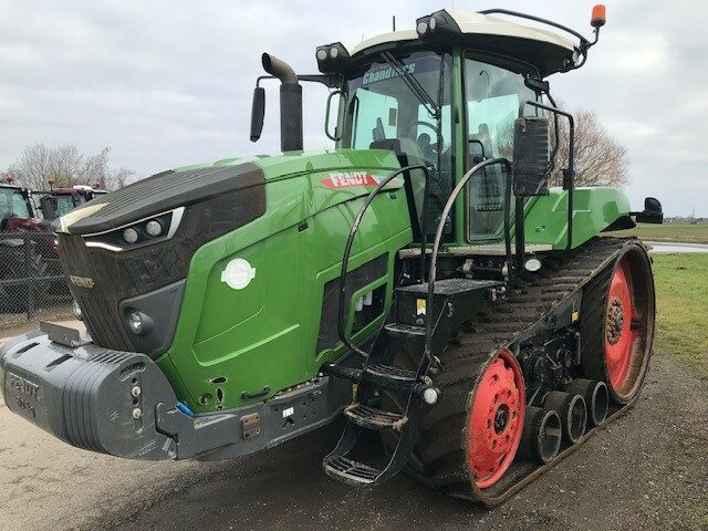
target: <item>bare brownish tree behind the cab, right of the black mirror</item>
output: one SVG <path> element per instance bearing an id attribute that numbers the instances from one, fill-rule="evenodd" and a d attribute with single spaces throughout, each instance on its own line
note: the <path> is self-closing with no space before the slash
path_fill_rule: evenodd
<path id="1" fill-rule="evenodd" d="M 575 117 L 575 186 L 623 187 L 629 183 L 627 150 L 618 144 L 600 123 L 597 115 L 584 108 Z M 553 117 L 551 122 L 551 146 L 555 146 Z M 551 174 L 551 186 L 563 185 L 562 169 L 568 168 L 569 124 L 559 118 L 558 156 Z"/>

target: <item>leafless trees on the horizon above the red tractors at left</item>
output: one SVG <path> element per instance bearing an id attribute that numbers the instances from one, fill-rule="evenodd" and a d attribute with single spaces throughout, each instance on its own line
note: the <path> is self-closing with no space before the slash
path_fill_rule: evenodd
<path id="1" fill-rule="evenodd" d="M 111 169 L 110 153 L 110 147 L 94 155 L 84 155 L 71 144 L 55 148 L 34 144 L 24 148 L 20 158 L 8 169 L 18 183 L 42 190 L 49 188 L 50 181 L 55 187 L 98 185 L 106 189 L 116 189 L 137 180 L 137 176 L 132 170 Z"/>

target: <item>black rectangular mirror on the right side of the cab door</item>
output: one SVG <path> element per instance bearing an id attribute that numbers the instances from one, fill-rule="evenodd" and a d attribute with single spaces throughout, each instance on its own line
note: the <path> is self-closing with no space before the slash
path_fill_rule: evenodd
<path id="1" fill-rule="evenodd" d="M 549 119 L 517 118 L 513 123 L 513 192 L 516 196 L 549 194 Z"/>

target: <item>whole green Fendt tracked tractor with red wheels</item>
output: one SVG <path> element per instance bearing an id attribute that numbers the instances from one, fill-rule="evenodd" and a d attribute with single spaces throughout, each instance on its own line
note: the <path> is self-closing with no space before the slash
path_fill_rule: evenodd
<path id="1" fill-rule="evenodd" d="M 87 333 L 7 343 L 8 407 L 133 459 L 244 456 L 343 413 L 329 476 L 405 470 L 501 502 L 625 412 L 652 354 L 647 249 L 603 232 L 660 222 L 660 204 L 574 186 L 548 82 L 604 23 L 598 6 L 591 41 L 441 10 L 317 48 L 320 74 L 263 54 L 251 139 L 280 80 L 282 155 L 167 170 L 60 218 Z M 301 82 L 330 88 L 333 149 L 303 152 Z"/>

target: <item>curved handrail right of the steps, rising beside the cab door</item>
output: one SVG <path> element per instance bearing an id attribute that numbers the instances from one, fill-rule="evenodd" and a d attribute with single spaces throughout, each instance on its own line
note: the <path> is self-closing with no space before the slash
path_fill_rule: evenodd
<path id="1" fill-rule="evenodd" d="M 428 274 L 428 295 L 426 299 L 426 313 L 427 312 L 431 312 L 433 311 L 433 304 L 434 304 L 434 296 L 435 296 L 435 277 L 437 273 L 437 261 L 438 261 L 438 253 L 440 251 L 440 240 L 442 239 L 442 230 L 445 229 L 445 220 L 447 219 L 448 215 L 450 214 L 450 210 L 452 209 L 452 205 L 455 205 L 455 201 L 457 199 L 457 196 L 459 196 L 460 191 L 462 191 L 462 189 L 465 188 L 465 186 L 467 185 L 467 181 L 472 177 L 472 175 L 475 175 L 477 171 L 479 171 L 482 168 L 486 168 L 487 166 L 491 166 L 492 164 L 502 164 L 507 167 L 507 188 L 506 188 L 506 192 L 504 192 L 504 247 L 506 247 L 506 251 L 507 251 L 507 267 L 510 267 L 510 261 L 511 261 L 511 236 L 509 233 L 509 210 L 511 209 L 511 179 L 513 178 L 512 174 L 511 174 L 511 163 L 502 157 L 497 157 L 497 158 L 489 158 L 487 160 L 482 160 L 479 164 L 476 164 L 475 166 L 471 167 L 471 169 L 469 171 L 467 171 L 467 174 L 465 174 L 462 176 L 462 178 L 460 179 L 460 181 L 457 184 L 457 186 L 455 187 L 455 189 L 452 190 L 452 192 L 450 194 L 450 197 L 447 199 L 447 202 L 445 204 L 445 208 L 442 209 L 442 215 L 440 216 L 440 222 L 438 223 L 438 228 L 435 232 L 435 240 L 433 241 L 433 253 L 430 254 L 430 269 L 429 269 L 429 274 Z M 433 317 L 434 315 L 430 315 L 429 313 L 427 314 L 427 319 L 426 319 L 426 327 L 425 327 L 425 348 L 424 348 L 424 353 L 425 356 L 431 362 L 435 363 L 434 358 L 433 358 L 433 352 L 431 352 L 431 343 L 433 343 Z"/>

